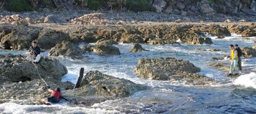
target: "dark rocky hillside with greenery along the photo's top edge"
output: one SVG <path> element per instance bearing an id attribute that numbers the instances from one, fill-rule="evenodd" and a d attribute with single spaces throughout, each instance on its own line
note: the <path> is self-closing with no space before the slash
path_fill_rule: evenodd
<path id="1" fill-rule="evenodd" d="M 256 0 L 2 0 L 0 8 L 11 11 L 92 9 L 155 11 L 166 14 L 256 15 Z"/>

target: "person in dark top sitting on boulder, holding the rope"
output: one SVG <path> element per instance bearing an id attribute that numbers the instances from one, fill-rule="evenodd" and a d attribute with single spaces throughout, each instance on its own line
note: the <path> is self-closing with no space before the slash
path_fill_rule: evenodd
<path id="1" fill-rule="evenodd" d="M 26 58 L 29 62 L 38 63 L 41 59 L 40 47 L 37 46 L 36 41 L 32 41 L 32 46 L 29 48 L 29 55 Z"/>

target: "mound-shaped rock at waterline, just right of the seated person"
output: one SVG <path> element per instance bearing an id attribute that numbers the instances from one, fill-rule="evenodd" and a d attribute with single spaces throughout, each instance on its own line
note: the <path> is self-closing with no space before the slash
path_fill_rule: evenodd
<path id="1" fill-rule="evenodd" d="M 84 51 L 80 49 L 76 44 L 70 43 L 70 41 L 62 41 L 61 44 L 56 44 L 55 47 L 51 48 L 49 55 L 52 56 L 79 56 Z"/>

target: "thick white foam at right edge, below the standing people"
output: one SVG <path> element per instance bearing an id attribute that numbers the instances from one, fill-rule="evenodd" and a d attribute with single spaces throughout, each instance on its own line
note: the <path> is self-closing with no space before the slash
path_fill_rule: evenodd
<path id="1" fill-rule="evenodd" d="M 234 81 L 234 84 L 245 86 L 245 88 L 252 87 L 256 89 L 256 74 L 249 73 L 247 75 L 241 75 Z"/>

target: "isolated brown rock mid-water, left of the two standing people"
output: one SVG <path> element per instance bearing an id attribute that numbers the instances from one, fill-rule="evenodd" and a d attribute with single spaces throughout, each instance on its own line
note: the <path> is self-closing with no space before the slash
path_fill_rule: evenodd
<path id="1" fill-rule="evenodd" d="M 172 76 L 185 73 L 197 73 L 200 68 L 195 67 L 188 60 L 179 60 L 172 57 L 159 59 L 139 59 L 134 72 L 140 78 L 169 80 Z"/>

